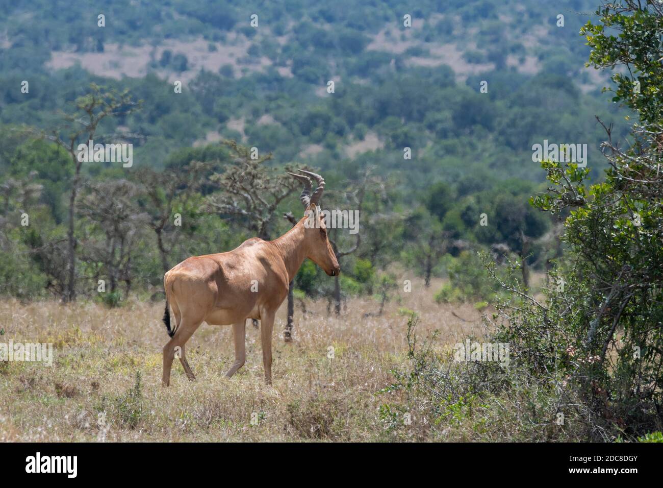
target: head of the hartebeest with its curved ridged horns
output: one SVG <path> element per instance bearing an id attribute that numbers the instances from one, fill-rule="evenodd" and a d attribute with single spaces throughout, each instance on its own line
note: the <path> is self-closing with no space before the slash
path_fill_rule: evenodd
<path id="1" fill-rule="evenodd" d="M 304 171 L 303 169 L 298 169 L 297 171 L 303 174 L 288 174 L 304 183 L 300 200 L 304 205 L 304 217 L 306 217 L 304 221 L 306 257 L 320 266 L 329 276 L 337 276 L 341 272 L 341 267 L 338 265 L 336 254 L 331 247 L 325 220 L 320 212 L 320 206 L 318 206 L 322 192 L 325 189 L 325 181 L 322 176 L 316 173 Z M 318 182 L 316 191 L 313 191 L 311 178 Z"/>

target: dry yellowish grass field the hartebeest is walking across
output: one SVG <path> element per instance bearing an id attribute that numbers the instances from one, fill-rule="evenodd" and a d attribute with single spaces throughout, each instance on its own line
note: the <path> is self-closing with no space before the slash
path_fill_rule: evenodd
<path id="1" fill-rule="evenodd" d="M 171 386 L 163 388 L 162 303 L 106 309 L 3 301 L 0 342 L 53 343 L 55 359 L 52 367 L 0 363 L 0 441 L 94 441 L 104 431 L 109 441 L 383 440 L 379 407 L 386 399 L 376 392 L 405 359 L 403 307 L 420 315 L 420 334 L 440 330 L 440 347 L 483 333 L 472 305 L 436 305 L 438 288 L 414 283 L 381 317 L 365 317 L 379 308 L 371 299 L 349 301 L 340 317 L 328 317 L 326 301 L 307 303 L 305 317 L 298 306 L 294 341 L 274 334 L 273 387 L 263 382 L 253 327 L 247 363 L 233 378 L 223 376 L 233 361 L 230 327 L 204 324 L 187 344 L 197 380 L 189 382 L 176 360 Z M 275 330 L 284 323 L 282 306 Z"/>

